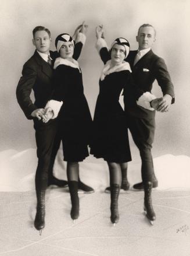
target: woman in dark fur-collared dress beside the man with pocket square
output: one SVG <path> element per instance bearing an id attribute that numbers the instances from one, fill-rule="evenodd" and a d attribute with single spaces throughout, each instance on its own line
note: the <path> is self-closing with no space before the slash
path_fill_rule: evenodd
<path id="1" fill-rule="evenodd" d="M 99 40 L 96 45 L 98 43 Z M 109 167 L 110 219 L 114 224 L 119 221 L 118 198 L 121 170 L 126 169 L 127 162 L 131 161 L 126 115 L 119 103 L 121 91 L 131 83 L 130 65 L 124 61 L 130 51 L 130 44 L 125 38 L 120 37 L 112 43 L 110 53 L 107 49 L 106 51 L 105 54 L 110 54 L 111 59 L 106 62 L 99 79 L 91 153 L 97 158 L 102 157 Z"/>

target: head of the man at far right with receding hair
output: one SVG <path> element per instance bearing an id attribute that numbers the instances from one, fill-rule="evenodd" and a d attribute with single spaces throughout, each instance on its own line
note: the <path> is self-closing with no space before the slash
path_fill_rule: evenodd
<path id="1" fill-rule="evenodd" d="M 155 30 L 153 27 L 141 27 L 138 32 L 136 40 L 139 45 L 139 50 L 144 50 L 152 47 L 152 44 L 155 42 Z"/>

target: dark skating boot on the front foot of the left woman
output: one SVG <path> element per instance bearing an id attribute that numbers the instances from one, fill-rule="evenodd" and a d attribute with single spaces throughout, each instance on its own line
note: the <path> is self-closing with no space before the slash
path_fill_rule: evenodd
<path id="1" fill-rule="evenodd" d="M 69 181 L 69 191 L 71 198 L 71 219 L 76 220 L 79 216 L 79 198 L 78 198 L 78 181 Z"/>

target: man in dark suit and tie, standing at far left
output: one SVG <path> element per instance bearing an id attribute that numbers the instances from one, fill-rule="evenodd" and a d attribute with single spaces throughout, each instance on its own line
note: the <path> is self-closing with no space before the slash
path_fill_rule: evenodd
<path id="1" fill-rule="evenodd" d="M 79 30 L 84 31 L 85 25 L 83 24 Z M 76 33 L 78 37 L 74 58 L 77 59 L 83 47 L 85 36 L 83 33 L 79 33 L 79 31 L 76 31 Z M 35 27 L 33 30 L 33 44 L 36 50 L 34 55 L 23 66 L 22 76 L 16 89 L 16 96 L 26 117 L 34 121 L 38 157 L 38 166 L 35 175 L 37 215 L 34 224 L 38 230 L 41 230 L 45 225 L 46 187 L 50 184 L 64 187 L 67 185 L 67 181 L 58 180 L 53 176 L 53 164 L 51 162 L 54 163 L 56 150 L 58 150 L 58 146 L 60 145 L 59 139 L 56 139 L 56 145 L 53 145 L 53 138 L 55 138 L 57 131 L 57 122 L 56 120 L 51 120 L 45 124 L 41 121 L 42 119 L 46 119 L 44 107 L 52 93 L 52 62 L 55 61 L 57 56 L 57 52 L 49 51 L 51 44 L 50 31 L 42 26 Z M 31 90 L 34 91 L 34 103 L 30 99 Z M 54 149 L 53 153 L 52 149 Z M 81 189 L 83 189 L 85 184 L 78 183 L 79 188 L 80 184 L 82 186 Z M 92 188 L 91 190 L 94 191 Z"/>

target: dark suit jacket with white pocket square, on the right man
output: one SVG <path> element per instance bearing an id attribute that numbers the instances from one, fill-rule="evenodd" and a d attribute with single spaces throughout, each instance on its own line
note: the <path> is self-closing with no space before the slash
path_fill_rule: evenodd
<path id="1" fill-rule="evenodd" d="M 101 48 L 99 53 L 104 63 L 110 59 L 106 48 Z M 151 92 L 152 84 L 156 79 L 162 89 L 163 95 L 170 94 L 173 97 L 172 103 L 174 103 L 174 86 L 167 71 L 167 66 L 162 58 L 150 50 L 133 65 L 136 54 L 137 51 L 130 51 L 127 59 L 125 59 L 125 61 L 130 63 L 133 78 L 131 85 L 124 88 L 125 111 L 127 114 L 135 117 L 153 118 L 155 117 L 155 111 L 146 110 L 137 106 L 136 100 L 138 100 L 138 96 L 141 96 L 141 94 L 136 89 L 139 88 L 139 92 Z"/>

